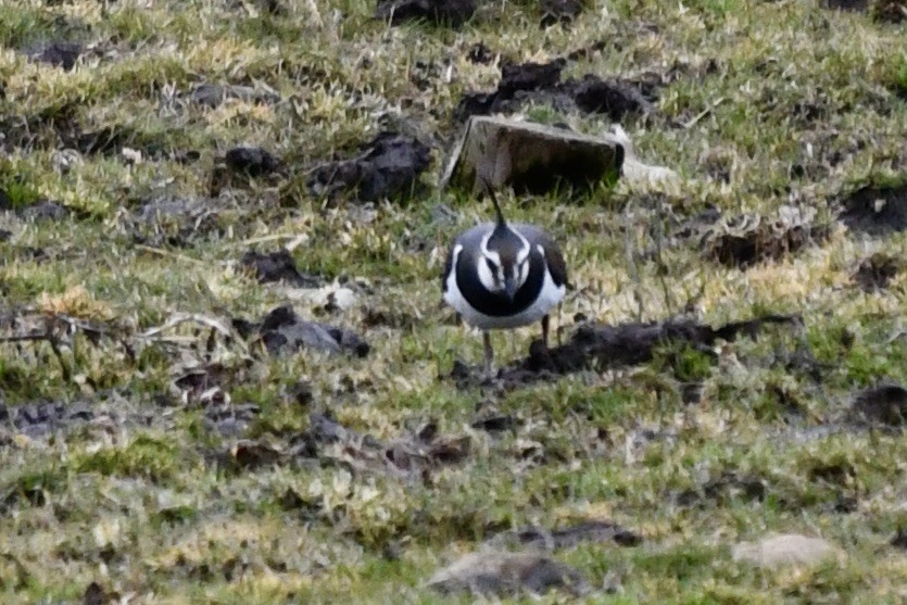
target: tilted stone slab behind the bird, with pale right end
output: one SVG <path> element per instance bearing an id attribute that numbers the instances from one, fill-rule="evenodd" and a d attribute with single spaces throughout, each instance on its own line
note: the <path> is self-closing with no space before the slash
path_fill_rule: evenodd
<path id="1" fill-rule="evenodd" d="M 441 175 L 450 184 L 481 191 L 511 186 L 518 191 L 545 193 L 558 184 L 592 188 L 619 178 L 652 181 L 676 176 L 646 166 L 618 126 L 601 136 L 583 135 L 532 122 L 475 115 L 454 146 Z"/>

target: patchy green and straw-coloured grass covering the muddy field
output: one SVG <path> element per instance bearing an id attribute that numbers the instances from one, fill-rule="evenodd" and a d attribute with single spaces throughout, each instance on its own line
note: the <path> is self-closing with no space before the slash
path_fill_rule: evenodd
<path id="1" fill-rule="evenodd" d="M 638 254 L 657 243 L 652 226 L 669 215 L 714 204 L 729 216 L 773 216 L 793 203 L 828 216 L 830 202 L 861 185 L 907 177 L 903 25 L 811 0 L 593 0 L 571 28 L 546 29 L 529 3 L 490 2 L 458 31 L 388 28 L 373 10 L 348 0 L 287 2 L 277 15 L 240 0 L 0 0 L 0 189 L 16 206 L 48 198 L 72 213 L 62 222 L 0 216 L 11 232 L 0 239 L 3 329 L 24 333 L 29 317 L 62 312 L 135 349 L 133 358 L 117 339 L 93 345 L 79 336 L 61 352 L 63 370 L 47 342 L 0 344 L 9 406 L 97 411 L 77 430 L 3 433 L 3 602 L 74 602 L 97 581 L 131 603 L 433 603 L 441 597 L 424 588 L 432 571 L 495 531 L 596 517 L 644 540 L 557 555 L 593 585 L 618 579 L 619 592 L 594 602 L 903 603 L 907 556 L 889 541 L 907 522 L 907 441 L 814 429 L 856 389 L 903 374 L 904 276 L 869 293 L 851 276 L 874 252 L 902 255 L 905 236 L 867 239 L 835 226 L 820 245 L 748 270 L 708 261 L 691 241 Z M 64 71 L 26 58 L 47 40 L 91 46 Z M 513 218 L 560 240 L 583 288 L 560 324 L 569 329 L 580 312 L 609 324 L 659 320 L 690 302 L 713 325 L 795 312 L 804 328 L 741 339 L 717 362 L 666 350 L 616 373 L 458 391 L 439 375 L 456 358 L 478 363 L 481 339 L 439 307 L 438 277 L 450 239 L 490 209 L 454 193 L 325 205 L 305 192 L 303 168 L 351 153 L 388 125 L 449 140 L 461 93 L 500 77 L 495 64 L 467 60 L 479 41 L 516 61 L 545 61 L 599 40 L 605 49 L 566 75 L 670 73 L 659 116 L 623 126 L 643 160 L 684 180 L 663 192 L 619 185 L 581 202 L 503 196 Z M 199 81 L 266 85 L 279 100 L 205 108 L 185 96 Z M 669 126 L 709 109 L 689 128 Z M 608 126 L 567 117 L 589 133 Z M 110 149 L 61 153 L 61 137 L 102 129 Z M 239 143 L 281 157 L 289 176 L 222 191 L 206 230 L 141 225 L 139 245 L 135 210 L 206 197 L 216 159 Z M 123 147 L 140 161 L 127 162 Z M 198 160 L 174 153 L 186 151 Z M 442 153 L 439 144 L 428 185 Z M 442 202 L 455 224 L 432 222 Z M 169 343 L 136 335 L 176 312 L 257 319 L 293 300 L 237 262 L 299 236 L 300 269 L 356 285 L 357 299 L 333 312 L 298 301 L 297 312 L 352 327 L 373 349 L 362 360 L 301 352 L 245 365 L 239 343 L 217 344 L 223 391 L 261 407 L 244 437 L 287 446 L 308 423 L 291 395 L 307 381 L 308 407 L 381 440 L 429 418 L 440 434 L 468 434 L 465 462 L 428 482 L 337 464 L 224 470 L 212 462 L 235 439 L 207 430 L 198 398 L 184 404 L 173 385 L 202 357 L 186 342 L 207 332 L 178 327 Z M 499 360 L 521 356 L 537 329 L 496 337 Z M 818 380 L 779 361 L 804 343 L 823 364 Z M 702 382 L 697 403 L 682 403 L 686 381 Z M 480 403 L 519 428 L 497 437 L 469 428 Z M 761 481 L 765 496 L 702 490 L 722 477 Z M 811 570 L 732 560 L 733 543 L 771 531 L 822 535 L 848 556 Z"/>

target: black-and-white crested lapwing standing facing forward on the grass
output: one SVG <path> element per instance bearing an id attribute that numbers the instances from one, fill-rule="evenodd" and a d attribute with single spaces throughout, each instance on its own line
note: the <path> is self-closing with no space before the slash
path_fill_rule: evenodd
<path id="1" fill-rule="evenodd" d="M 550 312 L 570 283 L 554 239 L 543 229 L 507 223 L 491 187 L 495 220 L 459 234 L 448 250 L 443 299 L 469 326 L 482 331 L 484 371 L 491 377 L 491 330 L 515 329 L 541 320 L 547 349 Z"/>

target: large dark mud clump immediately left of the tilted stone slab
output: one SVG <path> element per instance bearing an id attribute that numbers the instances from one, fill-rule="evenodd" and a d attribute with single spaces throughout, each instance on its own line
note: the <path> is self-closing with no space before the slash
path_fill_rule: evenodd
<path id="1" fill-rule="evenodd" d="M 362 202 L 403 197 L 431 161 L 431 149 L 414 137 L 381 133 L 351 160 L 316 167 L 306 185 L 313 196 L 355 191 Z"/>

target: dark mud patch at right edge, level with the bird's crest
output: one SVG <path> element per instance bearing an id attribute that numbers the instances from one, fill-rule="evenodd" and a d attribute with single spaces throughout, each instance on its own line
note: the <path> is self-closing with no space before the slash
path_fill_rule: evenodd
<path id="1" fill-rule="evenodd" d="M 907 185 L 862 187 L 840 203 L 839 219 L 854 232 L 884 236 L 907 229 Z"/>

